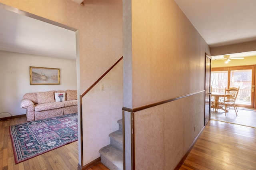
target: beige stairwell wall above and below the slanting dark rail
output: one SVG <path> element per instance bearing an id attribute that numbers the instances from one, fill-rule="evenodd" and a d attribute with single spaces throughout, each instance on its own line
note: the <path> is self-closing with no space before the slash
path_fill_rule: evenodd
<path id="1" fill-rule="evenodd" d="M 122 1 L 86 0 L 80 12 L 80 87 L 86 91 L 122 57 Z M 115 76 L 114 76 L 115 75 Z M 84 164 L 100 156 L 118 130 L 123 106 L 122 62 L 83 99 Z M 100 84 L 105 90 L 100 91 Z"/>

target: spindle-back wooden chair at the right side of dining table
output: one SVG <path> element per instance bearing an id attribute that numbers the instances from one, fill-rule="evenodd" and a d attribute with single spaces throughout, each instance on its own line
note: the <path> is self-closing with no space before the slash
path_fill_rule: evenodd
<path id="1" fill-rule="evenodd" d="M 227 114 L 228 109 L 234 109 L 237 116 L 237 108 L 236 108 L 236 97 L 238 95 L 239 87 L 238 88 L 225 88 L 225 96 L 223 101 L 219 101 L 219 106 L 225 107 L 225 116 Z"/>

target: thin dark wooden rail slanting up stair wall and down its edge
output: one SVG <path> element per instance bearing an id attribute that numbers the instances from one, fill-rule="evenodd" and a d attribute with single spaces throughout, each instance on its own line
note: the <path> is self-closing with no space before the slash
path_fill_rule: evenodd
<path id="1" fill-rule="evenodd" d="M 105 77 L 106 74 L 108 74 L 108 72 L 110 70 L 112 70 L 121 60 L 123 59 L 123 56 L 118 59 L 118 61 L 116 61 L 116 63 L 114 63 L 102 76 L 100 76 L 100 78 L 98 78 L 98 80 L 96 80 L 82 95 L 80 95 L 80 126 L 81 126 L 81 130 L 80 130 L 80 136 L 81 136 L 81 166 L 84 166 L 84 154 L 83 154 L 83 121 L 82 121 L 82 97 L 84 97 L 84 95 L 86 95 L 86 93 L 88 93 L 103 77 Z"/>

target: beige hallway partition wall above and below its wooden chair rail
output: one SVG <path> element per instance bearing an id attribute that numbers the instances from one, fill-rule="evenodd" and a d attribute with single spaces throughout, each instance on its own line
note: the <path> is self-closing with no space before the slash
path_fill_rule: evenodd
<path id="1" fill-rule="evenodd" d="M 123 2 L 124 106 L 204 91 L 210 48 L 174 0 Z M 174 169 L 203 127 L 204 92 L 135 112 L 136 169 Z"/>

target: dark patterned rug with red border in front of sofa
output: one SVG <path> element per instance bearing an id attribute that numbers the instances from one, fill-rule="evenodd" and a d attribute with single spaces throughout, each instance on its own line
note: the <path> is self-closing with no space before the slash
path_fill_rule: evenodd
<path id="1" fill-rule="evenodd" d="M 10 126 L 18 164 L 78 140 L 77 113 Z"/>

